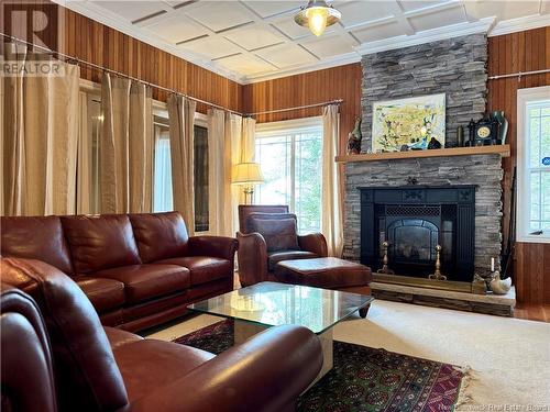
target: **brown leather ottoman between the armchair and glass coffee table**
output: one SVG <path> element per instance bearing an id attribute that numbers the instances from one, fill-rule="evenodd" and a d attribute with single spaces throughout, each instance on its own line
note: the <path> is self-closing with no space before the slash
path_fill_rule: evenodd
<path id="1" fill-rule="evenodd" d="M 371 268 L 337 257 L 279 261 L 275 278 L 283 283 L 371 294 Z M 369 307 L 363 308 L 359 314 L 365 318 L 367 311 Z"/>

